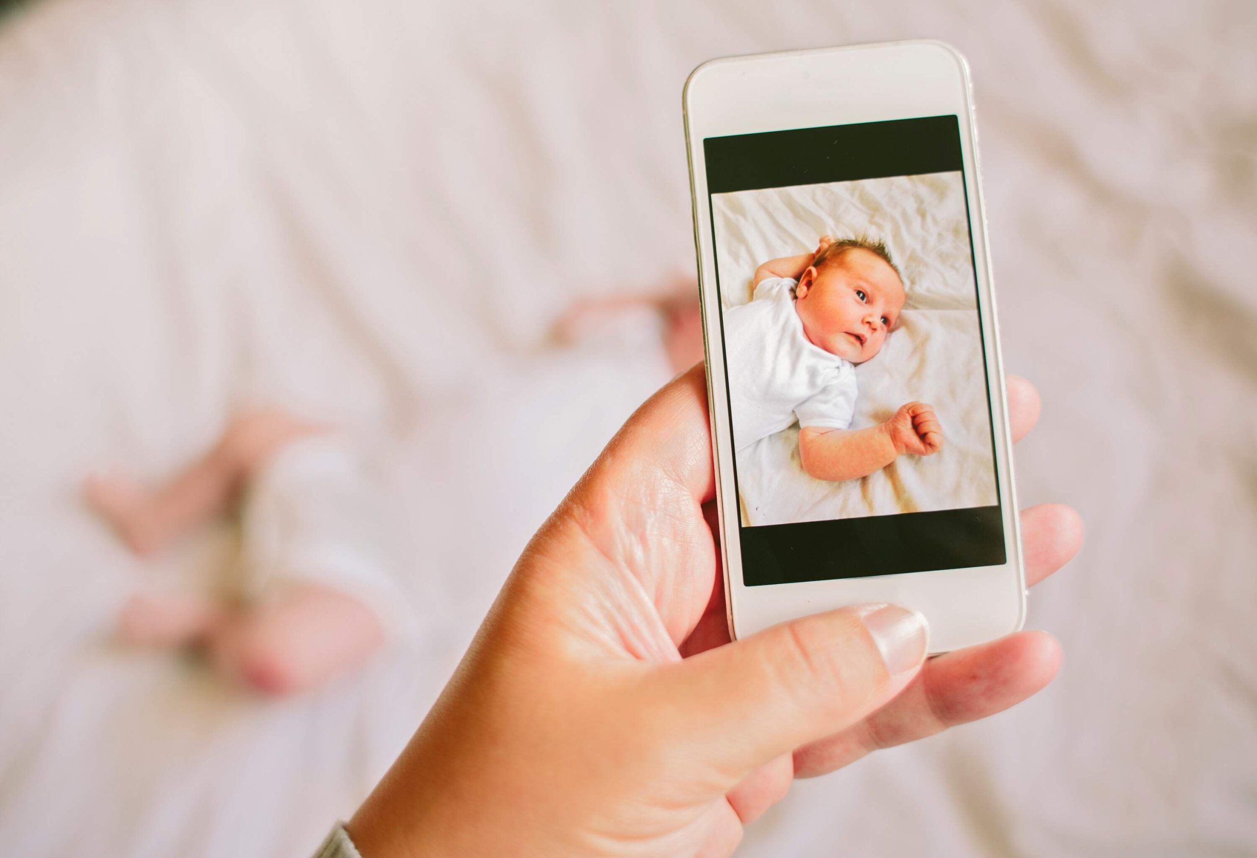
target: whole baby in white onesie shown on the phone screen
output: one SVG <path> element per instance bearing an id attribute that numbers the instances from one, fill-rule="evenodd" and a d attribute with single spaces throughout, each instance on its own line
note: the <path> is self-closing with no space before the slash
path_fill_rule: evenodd
<path id="1" fill-rule="evenodd" d="M 855 480 L 904 453 L 938 452 L 943 430 L 923 402 L 848 428 L 855 364 L 881 350 L 903 309 L 904 281 L 880 241 L 822 236 L 816 253 L 760 265 L 752 300 L 724 313 L 734 448 L 797 420 L 799 460 L 818 480 Z"/>

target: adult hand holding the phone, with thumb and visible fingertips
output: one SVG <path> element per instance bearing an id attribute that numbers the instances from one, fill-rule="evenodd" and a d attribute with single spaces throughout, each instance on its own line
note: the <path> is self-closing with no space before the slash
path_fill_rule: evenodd
<path id="1" fill-rule="evenodd" d="M 1036 397 L 1009 382 L 1021 436 Z M 730 643 L 704 515 L 705 384 L 695 367 L 644 405 L 538 531 L 349 823 L 362 854 L 727 855 L 793 778 L 993 715 L 1052 678 L 1058 649 L 1041 632 L 923 665 L 919 618 L 892 605 Z M 1024 521 L 1035 583 L 1081 531 L 1061 506 Z"/>

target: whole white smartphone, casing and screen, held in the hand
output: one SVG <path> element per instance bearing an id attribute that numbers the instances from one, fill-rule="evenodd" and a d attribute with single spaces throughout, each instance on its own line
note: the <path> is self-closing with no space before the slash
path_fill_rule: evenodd
<path id="1" fill-rule="evenodd" d="M 733 636 L 869 602 L 923 612 L 931 652 L 1019 629 L 964 59 L 716 59 L 684 107 Z"/>

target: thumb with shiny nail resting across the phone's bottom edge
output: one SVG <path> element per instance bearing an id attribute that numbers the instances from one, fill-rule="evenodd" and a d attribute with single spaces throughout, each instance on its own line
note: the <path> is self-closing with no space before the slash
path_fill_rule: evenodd
<path id="1" fill-rule="evenodd" d="M 899 605 L 801 617 L 672 666 L 681 687 L 669 709 L 737 783 L 880 709 L 920 670 L 928 641 L 925 617 Z"/>

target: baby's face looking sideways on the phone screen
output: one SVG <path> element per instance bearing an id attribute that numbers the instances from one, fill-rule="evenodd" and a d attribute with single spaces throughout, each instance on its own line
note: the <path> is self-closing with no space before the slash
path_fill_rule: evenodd
<path id="1" fill-rule="evenodd" d="M 851 363 L 881 350 L 904 309 L 904 284 L 895 269 L 862 247 L 847 250 L 820 271 L 808 268 L 794 295 L 794 310 L 812 344 Z"/>

